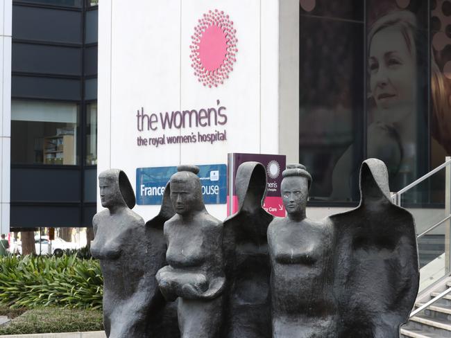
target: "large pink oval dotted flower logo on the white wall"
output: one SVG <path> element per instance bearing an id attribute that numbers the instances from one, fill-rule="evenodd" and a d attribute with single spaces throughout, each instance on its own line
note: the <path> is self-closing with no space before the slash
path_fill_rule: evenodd
<path id="1" fill-rule="evenodd" d="M 204 86 L 218 87 L 233 71 L 238 52 L 235 33 L 233 21 L 223 11 L 210 10 L 198 20 L 189 57 L 194 75 Z"/>

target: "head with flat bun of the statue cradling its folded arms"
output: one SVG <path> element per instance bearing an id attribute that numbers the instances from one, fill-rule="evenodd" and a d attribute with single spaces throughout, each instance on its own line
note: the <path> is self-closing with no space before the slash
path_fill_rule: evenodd
<path id="1" fill-rule="evenodd" d="M 171 202 L 179 215 L 189 215 L 205 208 L 203 204 L 201 180 L 196 166 L 178 166 L 178 172 L 171 176 Z"/>

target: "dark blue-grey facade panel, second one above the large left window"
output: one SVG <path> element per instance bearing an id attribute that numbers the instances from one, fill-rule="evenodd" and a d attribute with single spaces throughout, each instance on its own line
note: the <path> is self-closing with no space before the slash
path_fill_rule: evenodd
<path id="1" fill-rule="evenodd" d="M 81 75 L 80 48 L 12 43 L 12 71 Z"/>

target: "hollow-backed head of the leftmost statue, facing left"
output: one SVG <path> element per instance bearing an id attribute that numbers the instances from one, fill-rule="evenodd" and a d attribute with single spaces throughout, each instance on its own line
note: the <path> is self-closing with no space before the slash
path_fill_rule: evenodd
<path id="1" fill-rule="evenodd" d="M 99 175 L 99 191 L 103 208 L 135 206 L 135 193 L 126 173 L 119 169 L 109 169 Z"/>

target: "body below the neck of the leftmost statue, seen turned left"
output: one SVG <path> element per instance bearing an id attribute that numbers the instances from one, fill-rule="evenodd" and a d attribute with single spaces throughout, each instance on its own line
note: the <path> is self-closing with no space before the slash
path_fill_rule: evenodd
<path id="1" fill-rule="evenodd" d="M 124 206 L 93 219 L 91 252 L 103 274 L 103 322 L 107 337 L 144 337 L 155 297 L 148 235 L 142 217 Z M 144 249 L 137 249 L 137 244 Z"/>

